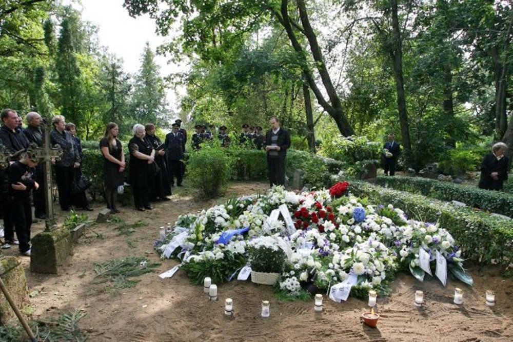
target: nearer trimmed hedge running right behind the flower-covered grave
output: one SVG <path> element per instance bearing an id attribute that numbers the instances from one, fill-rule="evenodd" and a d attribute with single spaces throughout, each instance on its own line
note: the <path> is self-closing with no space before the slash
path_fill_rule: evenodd
<path id="1" fill-rule="evenodd" d="M 392 204 L 410 217 L 439 222 L 452 234 L 467 258 L 513 268 L 513 220 L 365 182 L 353 181 L 349 190 L 356 196 L 368 197 L 374 204 Z"/>

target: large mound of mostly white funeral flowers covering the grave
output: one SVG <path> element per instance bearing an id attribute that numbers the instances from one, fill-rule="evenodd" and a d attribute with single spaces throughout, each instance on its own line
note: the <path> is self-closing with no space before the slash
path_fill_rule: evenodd
<path id="1" fill-rule="evenodd" d="M 166 255 L 183 260 L 182 269 L 194 284 L 205 276 L 220 284 L 251 265 L 254 271 L 280 273 L 275 289 L 292 298 L 305 289 L 326 291 L 351 274 L 358 279 L 351 293 L 362 296 L 370 289 L 387 293 L 389 280 L 400 270 L 422 281 L 421 248 L 431 256 L 433 269 L 438 251 L 447 259 L 448 271 L 472 285 L 461 250 L 447 230 L 408 219 L 392 205 L 342 196 L 347 185 L 339 182 L 329 190 L 300 194 L 273 187 L 264 195 L 230 199 L 197 215 L 180 216 L 175 230 L 155 248 L 165 257 L 166 249 L 175 247 Z M 295 232 L 281 219 L 269 219 L 284 204 Z M 229 240 L 221 239 L 230 232 Z"/>

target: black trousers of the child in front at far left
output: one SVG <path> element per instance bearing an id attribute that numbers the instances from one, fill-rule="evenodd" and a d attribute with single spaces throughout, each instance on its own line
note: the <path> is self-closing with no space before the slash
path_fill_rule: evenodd
<path id="1" fill-rule="evenodd" d="M 32 207 L 30 197 L 9 200 L 9 212 L 16 228 L 16 236 L 19 241 L 19 251 L 26 252 L 30 249 L 30 226 L 32 225 Z M 7 239 L 7 238 L 6 238 Z"/>

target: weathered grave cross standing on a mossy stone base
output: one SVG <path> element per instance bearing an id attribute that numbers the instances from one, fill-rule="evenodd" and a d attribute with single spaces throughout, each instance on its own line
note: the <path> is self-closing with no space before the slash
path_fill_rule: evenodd
<path id="1" fill-rule="evenodd" d="M 53 214 L 53 197 L 52 197 L 52 161 L 58 160 L 63 155 L 63 150 L 60 146 L 51 146 L 50 143 L 50 130 L 51 123 L 43 121 L 41 123 L 43 130 L 43 147 L 30 148 L 29 153 L 33 154 L 39 159 L 39 162 L 45 163 L 43 171 L 45 174 L 45 205 L 46 205 L 46 230 L 51 230 L 55 226 L 55 216 Z"/>

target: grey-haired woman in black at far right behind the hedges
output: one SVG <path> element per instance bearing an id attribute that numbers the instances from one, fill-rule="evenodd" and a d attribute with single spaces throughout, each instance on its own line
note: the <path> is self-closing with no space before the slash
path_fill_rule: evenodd
<path id="1" fill-rule="evenodd" d="M 488 190 L 501 190 L 504 180 L 508 179 L 509 159 L 504 155 L 508 146 L 497 143 L 491 148 L 491 153 L 483 158 L 479 187 Z"/>

